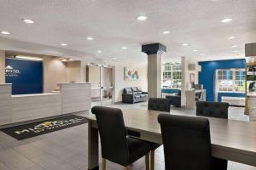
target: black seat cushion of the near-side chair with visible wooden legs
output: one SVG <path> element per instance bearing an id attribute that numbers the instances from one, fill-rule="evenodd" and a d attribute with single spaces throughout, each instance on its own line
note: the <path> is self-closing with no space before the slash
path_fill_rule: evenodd
<path id="1" fill-rule="evenodd" d="M 150 151 L 150 144 L 143 140 L 128 138 L 129 163 L 137 161 Z"/>

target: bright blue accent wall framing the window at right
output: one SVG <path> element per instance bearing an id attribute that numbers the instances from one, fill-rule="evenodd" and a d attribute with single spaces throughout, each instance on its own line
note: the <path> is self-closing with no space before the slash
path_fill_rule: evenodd
<path id="1" fill-rule="evenodd" d="M 203 84 L 203 88 L 207 89 L 207 101 L 214 100 L 214 73 L 216 69 L 245 68 L 245 59 L 227 59 L 216 61 L 199 62 L 201 72 L 199 72 L 199 84 Z M 227 93 L 224 93 L 227 94 Z M 223 95 L 223 94 L 221 94 Z M 236 93 L 229 93 L 226 96 L 236 96 Z M 245 94 L 243 94 L 245 96 Z M 240 96 L 239 96 L 240 97 Z M 219 98 L 219 97 L 218 97 Z M 221 98 L 221 97 L 220 97 Z"/>

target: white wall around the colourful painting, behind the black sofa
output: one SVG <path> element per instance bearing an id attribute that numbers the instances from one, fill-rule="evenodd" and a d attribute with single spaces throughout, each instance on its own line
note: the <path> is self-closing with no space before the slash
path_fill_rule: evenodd
<path id="1" fill-rule="evenodd" d="M 138 81 L 125 81 L 125 67 L 134 67 L 138 69 Z M 148 65 L 115 65 L 114 66 L 114 102 L 122 101 L 122 92 L 124 88 L 141 87 L 143 91 L 148 91 Z"/>

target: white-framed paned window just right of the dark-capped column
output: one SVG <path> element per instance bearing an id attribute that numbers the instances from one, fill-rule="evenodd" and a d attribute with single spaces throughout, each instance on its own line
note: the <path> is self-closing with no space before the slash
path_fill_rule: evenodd
<path id="1" fill-rule="evenodd" d="M 162 87 L 181 88 L 182 68 L 178 63 L 166 63 L 162 66 Z"/>

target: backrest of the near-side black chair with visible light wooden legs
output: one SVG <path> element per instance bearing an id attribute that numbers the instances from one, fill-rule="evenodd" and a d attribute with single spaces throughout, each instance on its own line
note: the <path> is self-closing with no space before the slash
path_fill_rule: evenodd
<path id="1" fill-rule="evenodd" d="M 102 157 L 120 165 L 127 164 L 129 150 L 122 111 L 116 108 L 95 106 L 91 112 L 96 115 L 101 137 Z"/>

